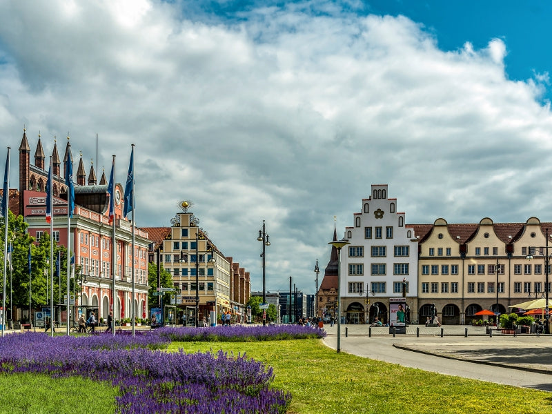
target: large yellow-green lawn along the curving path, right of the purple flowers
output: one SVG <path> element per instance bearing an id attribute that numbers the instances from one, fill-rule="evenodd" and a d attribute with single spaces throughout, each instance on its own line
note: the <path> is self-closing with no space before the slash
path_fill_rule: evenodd
<path id="1" fill-rule="evenodd" d="M 468 380 L 337 354 L 319 339 L 256 343 L 174 342 L 169 350 L 246 353 L 273 366 L 290 391 L 288 413 L 552 413 L 552 393 Z M 446 363 L 446 362 L 444 362 Z"/>

